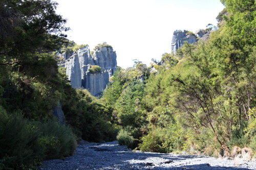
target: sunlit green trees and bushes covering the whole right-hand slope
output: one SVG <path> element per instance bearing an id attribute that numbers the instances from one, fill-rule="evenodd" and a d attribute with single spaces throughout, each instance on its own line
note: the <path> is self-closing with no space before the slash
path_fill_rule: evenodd
<path id="1" fill-rule="evenodd" d="M 255 153 L 255 4 L 222 3 L 226 8 L 218 28 L 207 28 L 209 38 L 163 54 L 165 64 L 155 66 L 159 73 L 145 84 L 132 79 L 131 70 L 115 73 L 102 100 L 122 126 L 119 138 L 133 137 L 134 148 L 142 151 L 192 147 L 230 156 L 233 148 L 249 147 Z"/>

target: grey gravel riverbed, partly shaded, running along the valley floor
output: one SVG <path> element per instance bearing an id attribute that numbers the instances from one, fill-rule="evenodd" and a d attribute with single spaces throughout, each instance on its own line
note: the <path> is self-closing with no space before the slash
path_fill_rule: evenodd
<path id="1" fill-rule="evenodd" d="M 74 156 L 42 162 L 38 169 L 256 169 L 256 161 L 132 152 L 117 141 L 79 144 Z"/>

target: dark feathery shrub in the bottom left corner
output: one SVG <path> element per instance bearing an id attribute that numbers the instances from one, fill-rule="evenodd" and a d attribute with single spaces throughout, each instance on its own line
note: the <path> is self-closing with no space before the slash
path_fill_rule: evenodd
<path id="1" fill-rule="evenodd" d="M 44 157 L 37 142 L 40 133 L 28 125 L 21 115 L 0 120 L 0 169 L 29 166 Z"/>

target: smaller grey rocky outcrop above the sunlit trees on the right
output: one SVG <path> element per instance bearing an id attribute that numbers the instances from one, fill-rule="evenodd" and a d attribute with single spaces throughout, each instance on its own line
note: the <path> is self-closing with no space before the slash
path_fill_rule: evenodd
<path id="1" fill-rule="evenodd" d="M 206 33 L 204 30 L 199 30 L 196 32 L 196 34 L 186 30 L 176 30 L 172 38 L 172 45 L 170 47 L 170 51 L 176 54 L 176 50 L 181 47 L 185 43 L 185 41 L 190 44 L 195 44 L 198 41 L 198 38 L 202 38 L 205 34 Z"/>

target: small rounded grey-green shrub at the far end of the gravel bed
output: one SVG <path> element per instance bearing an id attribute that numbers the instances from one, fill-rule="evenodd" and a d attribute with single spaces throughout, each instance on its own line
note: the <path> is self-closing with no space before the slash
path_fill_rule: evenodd
<path id="1" fill-rule="evenodd" d="M 127 148 L 134 149 L 135 139 L 127 131 L 121 129 L 116 138 L 118 144 L 127 145 Z"/>

